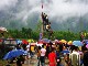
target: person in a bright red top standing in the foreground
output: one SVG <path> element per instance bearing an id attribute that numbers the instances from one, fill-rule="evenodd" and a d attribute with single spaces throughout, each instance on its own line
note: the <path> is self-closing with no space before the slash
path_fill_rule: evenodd
<path id="1" fill-rule="evenodd" d="M 51 53 L 48 54 L 50 66 L 56 66 L 56 54 L 54 48 L 52 48 Z"/>

